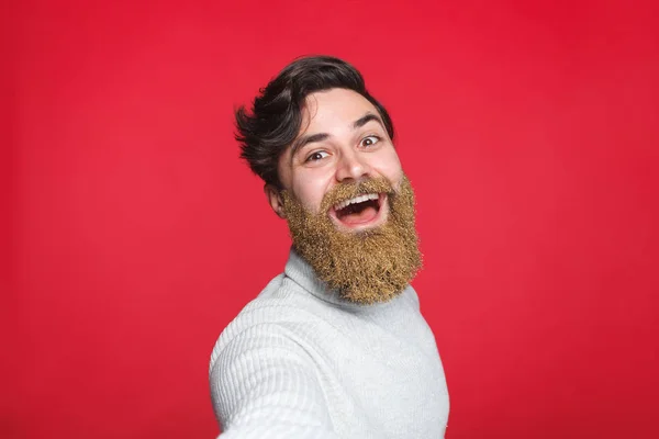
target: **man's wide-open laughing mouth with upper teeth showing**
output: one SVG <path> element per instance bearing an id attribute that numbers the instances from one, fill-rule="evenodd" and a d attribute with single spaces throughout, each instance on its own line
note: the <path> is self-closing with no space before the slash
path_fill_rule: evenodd
<path id="1" fill-rule="evenodd" d="M 387 194 L 366 193 L 335 204 L 330 212 L 340 225 L 348 228 L 375 226 L 383 217 Z"/>

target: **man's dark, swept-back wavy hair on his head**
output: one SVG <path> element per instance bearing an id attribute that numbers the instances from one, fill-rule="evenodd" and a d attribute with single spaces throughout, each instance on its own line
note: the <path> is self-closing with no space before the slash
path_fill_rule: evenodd
<path id="1" fill-rule="evenodd" d="M 355 67 L 331 56 L 299 58 L 259 90 L 250 114 L 245 106 L 236 110 L 235 137 L 241 144 L 241 157 L 267 184 L 281 187 L 277 165 L 299 134 L 304 99 L 315 91 L 334 88 L 353 90 L 372 103 L 393 139 L 391 117 L 368 93 L 364 78 Z"/>

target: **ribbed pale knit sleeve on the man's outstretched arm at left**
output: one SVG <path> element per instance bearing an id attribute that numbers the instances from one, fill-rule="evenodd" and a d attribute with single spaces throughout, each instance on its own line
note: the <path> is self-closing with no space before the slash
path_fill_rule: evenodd
<path id="1" fill-rule="evenodd" d="M 276 324 L 215 348 L 211 396 L 222 439 L 337 439 L 309 353 Z"/>

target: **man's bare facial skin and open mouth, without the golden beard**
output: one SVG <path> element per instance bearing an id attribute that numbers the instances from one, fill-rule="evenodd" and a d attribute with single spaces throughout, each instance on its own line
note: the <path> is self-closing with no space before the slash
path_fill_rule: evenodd
<path id="1" fill-rule="evenodd" d="M 332 89 L 306 98 L 301 132 L 279 159 L 279 178 L 306 210 L 321 213 L 323 196 L 335 185 L 383 177 L 394 190 L 401 162 L 377 109 L 351 90 Z M 337 229 L 366 230 L 387 221 L 387 194 L 372 194 L 348 209 L 330 206 Z"/>

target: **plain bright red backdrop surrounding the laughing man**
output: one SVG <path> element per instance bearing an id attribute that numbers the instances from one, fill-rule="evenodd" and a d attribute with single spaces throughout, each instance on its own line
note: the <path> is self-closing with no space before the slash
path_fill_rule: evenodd
<path id="1" fill-rule="evenodd" d="M 324 53 L 398 128 L 447 437 L 659 437 L 656 2 L 275 3 L 3 7 L 0 436 L 217 434 L 289 247 L 232 110 Z"/>

